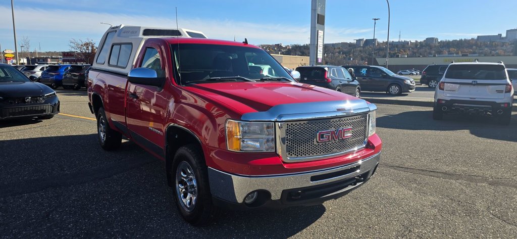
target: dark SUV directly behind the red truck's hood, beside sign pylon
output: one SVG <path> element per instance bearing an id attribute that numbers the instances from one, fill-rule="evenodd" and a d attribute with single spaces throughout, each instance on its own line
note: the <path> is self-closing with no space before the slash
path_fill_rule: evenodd
<path id="1" fill-rule="evenodd" d="M 361 95 L 361 85 L 340 66 L 300 66 L 300 82 L 321 86 L 355 96 Z"/>

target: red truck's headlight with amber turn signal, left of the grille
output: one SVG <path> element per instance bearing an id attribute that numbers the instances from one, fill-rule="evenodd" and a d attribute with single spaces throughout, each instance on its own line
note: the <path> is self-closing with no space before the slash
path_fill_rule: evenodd
<path id="1" fill-rule="evenodd" d="M 271 122 L 226 121 L 226 145 L 231 151 L 275 151 L 275 128 Z"/>

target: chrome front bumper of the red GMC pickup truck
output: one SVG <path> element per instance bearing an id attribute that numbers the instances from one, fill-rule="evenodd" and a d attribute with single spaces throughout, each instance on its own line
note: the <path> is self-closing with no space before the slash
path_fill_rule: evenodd
<path id="1" fill-rule="evenodd" d="M 377 153 L 337 168 L 264 176 L 241 176 L 209 167 L 210 191 L 217 201 L 241 207 L 246 207 L 244 199 L 254 191 L 267 198 L 262 197 L 262 202 L 253 207 L 321 204 L 346 195 L 368 181 L 380 158 L 381 153 Z"/>

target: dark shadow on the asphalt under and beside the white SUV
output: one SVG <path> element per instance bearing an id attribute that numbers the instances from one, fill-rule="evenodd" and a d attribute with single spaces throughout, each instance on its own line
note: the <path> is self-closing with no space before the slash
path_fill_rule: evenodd
<path id="1" fill-rule="evenodd" d="M 444 119 L 433 119 L 432 111 L 406 111 L 400 114 L 377 118 L 377 127 L 405 130 L 469 130 L 477 137 L 517 142 L 517 115 L 514 113 L 510 125 L 498 125 L 494 118 L 484 115 L 450 114 Z"/>

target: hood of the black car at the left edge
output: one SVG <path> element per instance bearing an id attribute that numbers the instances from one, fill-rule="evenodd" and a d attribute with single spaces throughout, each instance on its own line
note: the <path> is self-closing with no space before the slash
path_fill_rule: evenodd
<path id="1" fill-rule="evenodd" d="M 52 89 L 37 82 L 0 82 L 0 97 L 42 96 Z"/>

